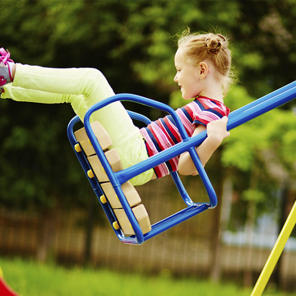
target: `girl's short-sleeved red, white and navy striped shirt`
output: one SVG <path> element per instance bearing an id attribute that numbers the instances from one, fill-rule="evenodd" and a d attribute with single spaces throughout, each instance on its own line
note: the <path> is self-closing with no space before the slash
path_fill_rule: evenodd
<path id="1" fill-rule="evenodd" d="M 229 108 L 223 103 L 206 97 L 196 97 L 194 101 L 176 110 L 189 137 L 197 125 L 206 126 L 209 122 L 228 116 Z M 140 129 L 146 143 L 148 156 L 157 154 L 182 141 L 181 135 L 171 115 L 159 118 Z M 157 178 L 178 170 L 180 155 L 159 164 L 154 168 Z"/>

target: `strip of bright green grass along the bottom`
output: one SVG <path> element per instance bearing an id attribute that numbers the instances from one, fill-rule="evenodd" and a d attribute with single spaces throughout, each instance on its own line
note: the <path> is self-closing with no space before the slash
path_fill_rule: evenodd
<path id="1" fill-rule="evenodd" d="M 229 283 L 213 284 L 161 275 L 148 277 L 115 273 L 106 269 L 67 269 L 23 259 L 0 258 L 0 266 L 5 281 L 21 296 L 250 296 L 251 294 L 251 289 L 241 289 Z"/>

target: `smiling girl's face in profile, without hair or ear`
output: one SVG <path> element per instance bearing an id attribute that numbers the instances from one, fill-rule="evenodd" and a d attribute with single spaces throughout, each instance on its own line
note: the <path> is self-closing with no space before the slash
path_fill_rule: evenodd
<path id="1" fill-rule="evenodd" d="M 174 81 L 181 87 L 183 99 L 188 100 L 197 97 L 202 91 L 199 80 L 199 67 L 189 64 L 184 57 L 182 47 L 175 54 L 175 67 L 177 74 Z"/>

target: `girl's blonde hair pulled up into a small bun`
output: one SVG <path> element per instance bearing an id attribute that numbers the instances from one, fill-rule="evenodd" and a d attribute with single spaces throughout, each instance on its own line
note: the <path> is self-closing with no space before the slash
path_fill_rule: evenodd
<path id="1" fill-rule="evenodd" d="M 189 29 L 183 32 L 178 40 L 178 47 L 185 49 L 185 58 L 189 63 L 197 66 L 204 60 L 209 60 L 221 75 L 224 95 L 234 82 L 231 70 L 231 51 L 228 40 L 221 34 L 190 33 Z"/>

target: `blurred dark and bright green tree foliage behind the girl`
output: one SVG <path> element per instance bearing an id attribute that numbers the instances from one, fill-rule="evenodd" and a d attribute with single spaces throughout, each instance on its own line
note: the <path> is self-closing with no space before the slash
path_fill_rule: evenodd
<path id="1" fill-rule="evenodd" d="M 184 102 L 173 82 L 175 35 L 187 26 L 218 31 L 230 37 L 240 81 L 225 98 L 235 110 L 295 79 L 295 18 L 294 0 L 5 1 L 1 46 L 23 64 L 98 68 L 116 93 L 171 101 L 177 108 Z M 233 130 L 223 165 L 243 178 L 262 161 L 259 151 L 272 149 L 295 178 L 294 104 Z M 161 115 L 127 107 L 152 119 Z M 84 203 L 87 195 L 93 198 L 66 136 L 74 115 L 70 106 L 1 100 L 0 110 L 1 203 L 68 206 Z"/>

